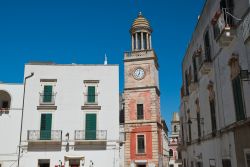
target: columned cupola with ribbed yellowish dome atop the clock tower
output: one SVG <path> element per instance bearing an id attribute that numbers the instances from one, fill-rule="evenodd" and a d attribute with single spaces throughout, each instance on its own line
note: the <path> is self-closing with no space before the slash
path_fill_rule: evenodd
<path id="1" fill-rule="evenodd" d="M 151 33 L 149 21 L 139 12 L 130 29 L 132 51 L 152 49 Z"/>

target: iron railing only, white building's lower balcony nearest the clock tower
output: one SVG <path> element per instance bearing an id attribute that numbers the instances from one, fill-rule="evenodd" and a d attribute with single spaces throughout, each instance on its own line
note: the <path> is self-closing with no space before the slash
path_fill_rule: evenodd
<path id="1" fill-rule="evenodd" d="M 105 141 L 107 140 L 106 130 L 76 130 L 76 141 Z"/>

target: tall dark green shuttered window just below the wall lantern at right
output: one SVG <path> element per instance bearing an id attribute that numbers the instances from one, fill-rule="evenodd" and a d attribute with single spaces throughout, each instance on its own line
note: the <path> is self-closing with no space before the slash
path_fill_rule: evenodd
<path id="1" fill-rule="evenodd" d="M 237 121 L 244 120 L 246 116 L 244 111 L 240 75 L 238 75 L 232 80 L 232 86 L 233 86 L 234 105 L 236 111 L 236 120 Z"/>

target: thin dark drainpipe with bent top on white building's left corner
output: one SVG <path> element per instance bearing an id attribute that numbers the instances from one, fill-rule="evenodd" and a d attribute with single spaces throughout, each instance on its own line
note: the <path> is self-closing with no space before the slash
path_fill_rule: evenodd
<path id="1" fill-rule="evenodd" d="M 19 167 L 20 163 L 20 153 L 21 153 L 21 141 L 22 141 L 22 131 L 23 131 L 23 113 L 24 113 L 24 99 L 25 99 L 25 88 L 26 88 L 26 80 L 33 77 L 34 73 L 32 72 L 29 76 L 24 78 L 24 86 L 23 86 L 23 105 L 22 105 L 22 115 L 21 115 L 21 128 L 20 128 L 20 138 L 18 145 L 18 160 L 17 167 Z"/>

